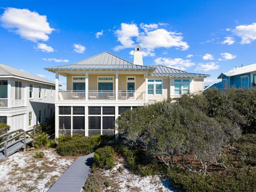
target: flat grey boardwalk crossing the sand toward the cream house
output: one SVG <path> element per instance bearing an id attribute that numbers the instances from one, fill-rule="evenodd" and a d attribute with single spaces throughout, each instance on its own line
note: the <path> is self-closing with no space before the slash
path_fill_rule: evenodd
<path id="1" fill-rule="evenodd" d="M 94 153 L 78 157 L 48 192 L 80 192 L 91 171 L 93 155 Z"/>

